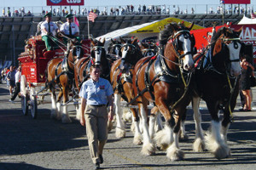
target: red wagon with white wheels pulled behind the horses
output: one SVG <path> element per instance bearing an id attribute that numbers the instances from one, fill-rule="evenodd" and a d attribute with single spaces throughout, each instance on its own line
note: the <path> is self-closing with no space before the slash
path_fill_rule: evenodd
<path id="1" fill-rule="evenodd" d="M 82 42 L 84 56 L 90 54 L 90 40 Z M 30 107 L 32 118 L 38 114 L 38 105 L 44 102 L 47 93 L 45 87 L 45 70 L 48 62 L 53 58 L 64 58 L 66 48 L 55 48 L 53 51 L 45 50 L 41 37 L 32 37 L 26 41 L 25 52 L 18 58 L 21 66 L 20 95 L 21 109 L 27 115 Z M 42 102 L 43 101 L 43 102 Z"/>

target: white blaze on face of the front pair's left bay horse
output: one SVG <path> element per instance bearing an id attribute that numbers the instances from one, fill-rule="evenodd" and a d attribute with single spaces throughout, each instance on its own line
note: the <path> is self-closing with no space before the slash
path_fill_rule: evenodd
<path id="1" fill-rule="evenodd" d="M 183 53 L 186 54 L 183 57 L 183 69 L 185 71 L 189 71 L 194 67 L 194 60 L 192 58 L 192 54 L 187 54 L 192 51 L 191 49 L 191 41 L 188 36 L 181 35 L 179 37 L 179 41 L 183 42 Z"/>

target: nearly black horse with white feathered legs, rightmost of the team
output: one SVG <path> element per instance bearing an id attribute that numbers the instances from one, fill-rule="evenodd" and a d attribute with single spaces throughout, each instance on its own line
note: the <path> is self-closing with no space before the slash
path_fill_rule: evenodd
<path id="1" fill-rule="evenodd" d="M 241 28 L 242 29 L 242 28 Z M 195 54 L 197 68 L 193 75 L 194 91 L 192 107 L 195 120 L 194 150 L 207 150 L 218 158 L 230 156 L 227 145 L 227 133 L 231 122 L 231 111 L 236 106 L 239 93 L 239 78 L 241 67 L 239 64 L 243 46 L 239 35 L 241 29 L 233 31 L 228 27 L 221 27 L 212 36 L 207 55 Z M 212 117 L 211 133 L 204 139 L 201 128 L 200 99 L 204 99 Z M 222 108 L 224 118 L 221 122 L 219 111 Z"/>

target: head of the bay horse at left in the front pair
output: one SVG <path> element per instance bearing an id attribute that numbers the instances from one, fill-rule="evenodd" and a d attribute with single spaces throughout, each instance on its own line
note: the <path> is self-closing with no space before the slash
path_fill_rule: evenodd
<path id="1" fill-rule="evenodd" d="M 160 44 L 166 45 L 166 58 L 170 59 L 175 55 L 178 63 L 182 65 L 185 71 L 194 69 L 192 55 L 194 54 L 195 37 L 190 34 L 193 26 L 194 23 L 188 27 L 183 24 L 172 23 L 160 32 Z"/>

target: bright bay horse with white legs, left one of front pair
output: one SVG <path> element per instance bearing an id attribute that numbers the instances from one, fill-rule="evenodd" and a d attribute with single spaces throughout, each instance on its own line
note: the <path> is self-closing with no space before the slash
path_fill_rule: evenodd
<path id="1" fill-rule="evenodd" d="M 181 117 L 189 105 L 189 82 L 194 69 L 195 38 L 190 34 L 194 26 L 186 27 L 175 22 L 160 31 L 160 54 L 156 57 L 140 59 L 133 72 L 133 89 L 137 105 L 143 119 L 143 149 L 145 156 L 153 155 L 153 127 L 155 111 L 147 122 L 147 103 L 154 102 L 154 110 L 159 110 L 166 119 L 164 129 L 157 132 L 154 140 L 161 149 L 166 149 L 167 157 L 172 161 L 183 159 L 183 151 L 178 146 L 178 132 Z M 164 50 L 164 51 L 163 51 Z M 159 112 L 158 111 L 158 112 Z M 175 115 L 173 115 L 175 111 Z M 174 120 L 176 117 L 176 121 Z M 151 135 L 150 135 L 151 134 Z"/>

